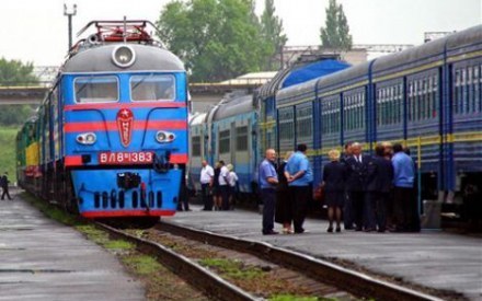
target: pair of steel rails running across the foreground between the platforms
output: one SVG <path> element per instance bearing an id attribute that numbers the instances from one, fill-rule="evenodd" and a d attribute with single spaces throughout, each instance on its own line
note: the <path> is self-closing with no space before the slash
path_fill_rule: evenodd
<path id="1" fill-rule="evenodd" d="M 154 255 L 162 264 L 185 278 L 187 282 L 219 300 L 260 300 L 266 296 L 260 294 L 260 291 L 241 289 L 213 270 L 203 267 L 197 263 L 197 259 L 188 258 L 159 243 L 159 240 L 154 239 L 154 236 L 162 236 L 169 233 L 173 238 L 186 240 L 187 242 L 184 243 L 187 248 L 190 248 L 190 245 L 208 245 L 222 250 L 218 252 L 225 255 L 228 254 L 230 257 L 242 258 L 244 256 L 245 258 L 245 254 L 257 257 L 259 261 L 264 261 L 268 263 L 267 265 L 275 266 L 268 269 L 277 269 L 276 275 L 278 276 L 286 274 L 286 271 L 280 273 L 279 270 L 282 269 L 290 270 L 290 276 L 285 278 L 289 278 L 291 283 L 308 283 L 311 292 L 306 288 L 303 288 L 303 291 L 305 293 L 308 291 L 310 296 L 328 298 L 342 296 L 344 300 L 357 298 L 377 300 L 441 300 L 435 296 L 381 281 L 371 276 L 263 242 L 219 235 L 208 231 L 165 222 L 161 222 L 154 229 L 148 230 L 149 234 L 144 235 L 145 238 L 139 238 L 138 234 L 133 234 L 128 230 L 117 229 L 112 225 L 99 225 L 115 236 L 120 236 L 135 243 L 141 252 Z M 144 233 L 146 234 L 147 232 Z M 232 252 L 234 252 L 234 255 Z M 307 281 L 307 278 L 310 280 Z"/>

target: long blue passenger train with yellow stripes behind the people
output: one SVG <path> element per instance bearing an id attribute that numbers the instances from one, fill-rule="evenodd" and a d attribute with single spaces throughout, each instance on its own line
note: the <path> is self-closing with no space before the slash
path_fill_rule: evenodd
<path id="1" fill-rule="evenodd" d="M 482 192 L 482 25 L 284 88 L 290 72 L 192 120 L 191 186 L 200 158 L 223 159 L 252 193 L 264 150 L 283 154 L 298 143 L 309 148 L 317 185 L 330 149 L 359 141 L 371 152 L 392 141 L 411 149 L 423 199 L 460 202 L 473 187 Z"/>

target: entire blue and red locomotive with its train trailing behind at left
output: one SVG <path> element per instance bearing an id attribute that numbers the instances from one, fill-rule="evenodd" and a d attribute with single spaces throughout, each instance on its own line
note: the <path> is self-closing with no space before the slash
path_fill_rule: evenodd
<path id="1" fill-rule="evenodd" d="M 87 218 L 174 215 L 187 163 L 186 71 L 148 24 L 81 31 L 97 30 L 72 47 L 18 134 L 22 187 Z"/>

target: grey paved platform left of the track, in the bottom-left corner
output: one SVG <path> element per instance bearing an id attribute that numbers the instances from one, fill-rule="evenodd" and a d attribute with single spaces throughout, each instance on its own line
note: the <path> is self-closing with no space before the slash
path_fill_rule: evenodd
<path id="1" fill-rule="evenodd" d="M 114 255 L 19 197 L 0 200 L 0 300 L 145 300 Z"/>

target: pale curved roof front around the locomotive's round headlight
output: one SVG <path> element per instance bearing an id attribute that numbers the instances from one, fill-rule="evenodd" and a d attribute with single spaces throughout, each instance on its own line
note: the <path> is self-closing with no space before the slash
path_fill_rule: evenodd
<path id="1" fill-rule="evenodd" d="M 184 71 L 183 62 L 172 53 L 158 46 L 140 44 L 127 44 L 136 53 L 136 61 L 129 68 L 120 68 L 112 60 L 112 53 L 118 45 L 122 44 L 80 51 L 65 62 L 61 72 Z"/>

